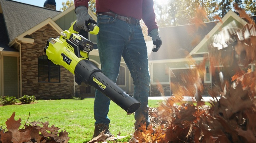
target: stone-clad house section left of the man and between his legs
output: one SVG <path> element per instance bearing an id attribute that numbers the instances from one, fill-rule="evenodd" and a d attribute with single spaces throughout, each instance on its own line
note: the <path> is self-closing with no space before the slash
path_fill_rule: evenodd
<path id="1" fill-rule="evenodd" d="M 60 36 L 76 20 L 75 6 L 63 12 L 55 8 L 54 0 L 46 0 L 44 7 L 0 0 L 0 96 L 34 95 L 37 99 L 94 96 L 94 87 L 78 86 L 72 73 L 47 60 L 44 53 L 47 40 Z M 91 10 L 89 14 L 96 20 Z M 79 34 L 94 43 L 90 61 L 100 68 L 96 36 L 83 30 Z M 124 60 L 117 84 L 128 93 L 133 92 Z"/>

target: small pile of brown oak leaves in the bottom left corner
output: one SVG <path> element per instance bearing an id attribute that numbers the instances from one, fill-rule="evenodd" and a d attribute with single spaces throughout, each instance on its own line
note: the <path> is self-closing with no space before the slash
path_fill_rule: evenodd
<path id="1" fill-rule="evenodd" d="M 15 112 L 7 119 L 7 130 L 0 129 L 0 143 L 67 143 L 70 139 L 66 130 L 58 132 L 60 128 L 49 122 L 31 122 L 19 129 L 21 119 L 15 120 Z"/>

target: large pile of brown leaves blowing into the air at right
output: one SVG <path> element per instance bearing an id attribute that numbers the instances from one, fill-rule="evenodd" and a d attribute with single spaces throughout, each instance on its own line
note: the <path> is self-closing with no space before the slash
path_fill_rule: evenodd
<path id="1" fill-rule="evenodd" d="M 142 132 L 135 131 L 131 142 L 256 142 L 256 71 L 250 68 L 256 61 L 256 26 L 245 11 L 238 7 L 236 10 L 248 24 L 242 29 L 233 26 L 222 29 L 221 32 L 226 33 L 226 41 L 218 43 L 220 41 L 213 39 L 213 43 L 209 45 L 209 56 L 205 58 L 209 58 L 210 71 L 218 80 L 208 90 L 214 99 L 210 102 L 211 106 L 205 105 L 202 100 L 204 88 L 201 77 L 205 72 L 204 60 L 201 64 L 194 65 L 196 70 L 181 73 L 182 82 L 171 84 L 175 97 L 170 97 L 160 107 L 152 109 L 152 127 L 146 130 L 142 126 Z M 196 63 L 192 58 L 189 61 L 190 65 Z M 223 68 L 219 68 L 219 64 Z M 162 89 L 161 85 L 158 86 Z M 176 105 L 184 95 L 194 97 L 196 105 Z"/>

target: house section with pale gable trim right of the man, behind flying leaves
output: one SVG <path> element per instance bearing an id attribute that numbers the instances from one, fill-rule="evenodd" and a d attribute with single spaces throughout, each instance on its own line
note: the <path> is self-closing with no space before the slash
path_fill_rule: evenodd
<path id="1" fill-rule="evenodd" d="M 256 16 L 252 16 L 255 20 Z M 157 95 L 157 84 L 163 86 L 164 95 L 170 96 L 170 83 L 179 81 L 180 72 L 193 69 L 193 65 L 188 65 L 188 57 L 193 57 L 196 63 L 208 55 L 209 45 L 212 43 L 214 35 L 218 34 L 222 28 L 236 26 L 243 28 L 247 22 L 240 18 L 235 12 L 229 11 L 222 22 L 210 22 L 197 26 L 196 24 L 181 25 L 175 27 L 160 28 L 159 35 L 163 44 L 160 50 L 154 55 L 149 56 L 151 69 L 151 94 Z M 219 65 L 218 67 L 222 67 Z M 216 67 L 214 67 L 216 68 Z M 249 68 L 255 69 L 254 65 Z M 207 89 L 216 84 L 213 78 L 209 60 L 205 63 L 206 73 L 201 77 L 204 86 L 204 95 L 207 95 Z M 215 72 L 218 72 L 217 69 Z M 218 75 L 218 74 L 216 74 Z"/>

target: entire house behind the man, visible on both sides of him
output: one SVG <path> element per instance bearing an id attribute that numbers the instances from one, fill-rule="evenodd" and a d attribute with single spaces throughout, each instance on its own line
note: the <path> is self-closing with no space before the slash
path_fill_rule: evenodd
<path id="1" fill-rule="evenodd" d="M 55 5 L 54 0 L 46 0 L 44 7 L 0 0 L 0 96 L 34 95 L 37 99 L 94 96 L 94 87 L 78 86 L 72 73 L 47 60 L 43 49 L 47 40 L 60 36 L 76 20 L 74 6 L 61 12 L 55 10 Z M 96 20 L 91 10 L 89 14 Z M 169 96 L 170 82 L 177 80 L 174 75 L 190 69 L 186 57 L 193 56 L 198 63 L 201 62 L 203 54 L 208 53 L 206 47 L 209 37 L 219 32 L 219 27 L 232 21 L 240 26 L 246 23 L 230 11 L 223 18 L 223 24 L 210 22 L 199 28 L 195 24 L 160 28 L 163 44 L 158 52 L 149 53 L 150 95 L 160 96 L 156 86 L 160 83 L 165 95 Z M 79 34 L 94 43 L 90 61 L 100 68 L 96 36 L 83 30 Z M 211 69 L 209 63 L 206 63 L 205 68 Z M 202 79 L 205 87 L 211 88 L 213 81 L 210 73 L 205 73 Z M 132 95 L 133 82 L 123 59 L 117 85 Z"/>

